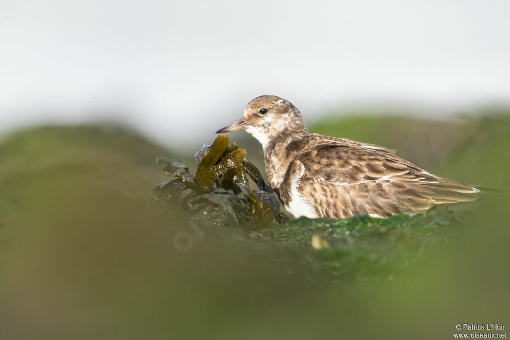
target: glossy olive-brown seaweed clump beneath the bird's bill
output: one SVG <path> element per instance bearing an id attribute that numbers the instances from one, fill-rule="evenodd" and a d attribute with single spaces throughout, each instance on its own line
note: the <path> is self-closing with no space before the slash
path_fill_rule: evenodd
<path id="1" fill-rule="evenodd" d="M 245 149 L 228 146 L 228 137 L 219 135 L 195 153 L 195 175 L 181 161 L 159 157 L 163 172 L 175 178 L 155 186 L 152 194 L 194 219 L 207 218 L 223 227 L 257 230 L 287 221 L 278 197 L 245 156 Z M 250 178 L 257 190 L 251 189 Z"/>

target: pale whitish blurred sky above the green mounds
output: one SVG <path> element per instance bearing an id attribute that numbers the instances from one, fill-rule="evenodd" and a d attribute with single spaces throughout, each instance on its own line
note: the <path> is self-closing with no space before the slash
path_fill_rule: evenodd
<path id="1" fill-rule="evenodd" d="M 510 101 L 510 1 L 0 0 L 0 130 L 94 119 L 208 141 L 261 94 Z"/>

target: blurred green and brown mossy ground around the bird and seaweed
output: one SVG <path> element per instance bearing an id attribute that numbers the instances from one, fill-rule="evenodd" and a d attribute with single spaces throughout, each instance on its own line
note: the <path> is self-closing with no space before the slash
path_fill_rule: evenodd
<path id="1" fill-rule="evenodd" d="M 508 117 L 347 118 L 310 130 L 508 190 Z M 423 226 L 356 217 L 211 232 L 148 204 L 167 180 L 159 155 L 179 158 L 108 126 L 0 142 L 0 339 L 450 339 L 458 323 L 510 327 L 508 199 Z M 340 228 L 336 250 L 310 246 L 313 233 Z"/>

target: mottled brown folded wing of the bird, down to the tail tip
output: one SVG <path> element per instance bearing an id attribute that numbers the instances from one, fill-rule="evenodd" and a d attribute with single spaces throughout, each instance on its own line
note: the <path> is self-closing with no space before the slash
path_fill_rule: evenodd
<path id="1" fill-rule="evenodd" d="M 388 217 L 426 210 L 432 204 L 476 200 L 476 189 L 432 175 L 386 150 L 321 145 L 299 156 L 304 166 L 298 191 L 319 216 Z"/>

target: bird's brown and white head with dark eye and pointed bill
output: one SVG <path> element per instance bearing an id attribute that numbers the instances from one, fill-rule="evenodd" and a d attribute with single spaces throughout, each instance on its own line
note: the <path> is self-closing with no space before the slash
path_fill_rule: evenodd
<path id="1" fill-rule="evenodd" d="M 216 133 L 239 130 L 246 130 L 257 138 L 263 147 L 284 131 L 306 132 L 299 110 L 290 101 L 272 95 L 263 95 L 251 100 L 244 108 L 244 115 L 241 118 L 220 128 Z"/>

